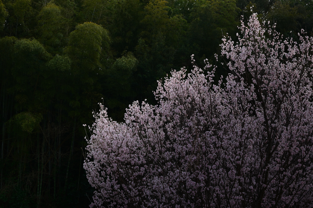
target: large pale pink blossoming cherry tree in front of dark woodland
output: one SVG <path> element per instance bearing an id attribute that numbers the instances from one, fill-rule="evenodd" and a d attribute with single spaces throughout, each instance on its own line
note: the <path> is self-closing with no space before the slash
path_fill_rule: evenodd
<path id="1" fill-rule="evenodd" d="M 313 38 L 284 39 L 256 14 L 240 29 L 221 44 L 226 82 L 192 58 L 125 123 L 100 105 L 90 207 L 313 207 Z"/>

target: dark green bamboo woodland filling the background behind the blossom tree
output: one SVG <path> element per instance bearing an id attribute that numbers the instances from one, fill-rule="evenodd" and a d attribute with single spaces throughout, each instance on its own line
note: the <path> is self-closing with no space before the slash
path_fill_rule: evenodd
<path id="1" fill-rule="evenodd" d="M 156 81 L 191 54 L 213 60 L 252 6 L 284 36 L 312 35 L 311 0 L 0 0 L 0 207 L 88 207 L 98 103 L 119 122 L 155 104 Z"/>

